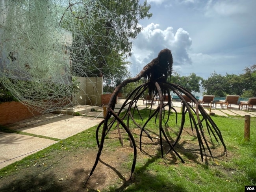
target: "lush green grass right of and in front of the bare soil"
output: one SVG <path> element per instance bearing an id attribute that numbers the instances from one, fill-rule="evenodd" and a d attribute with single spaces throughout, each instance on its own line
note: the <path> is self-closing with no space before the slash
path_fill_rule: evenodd
<path id="1" fill-rule="evenodd" d="M 185 127 L 190 127 L 188 119 Z M 221 130 L 228 157 L 210 159 L 208 165 L 203 163 L 167 165 L 165 159 L 161 157 L 154 160 L 148 158 L 146 162 L 137 164 L 135 183 L 125 191 L 243 192 L 245 185 L 256 185 L 256 118 L 251 118 L 250 141 L 244 140 L 243 117 L 213 116 L 212 119 Z M 137 120 L 139 121 L 139 118 Z M 176 127 L 174 122 L 173 115 L 168 123 L 169 126 Z M 154 124 L 147 127 L 154 127 Z M 185 139 L 190 140 L 189 137 Z M 187 162 L 189 156 L 182 157 Z M 147 167 L 144 164 L 147 164 Z"/>

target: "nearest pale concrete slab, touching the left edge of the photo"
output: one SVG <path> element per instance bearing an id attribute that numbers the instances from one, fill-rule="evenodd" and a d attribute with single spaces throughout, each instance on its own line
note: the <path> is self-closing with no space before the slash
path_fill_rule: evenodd
<path id="1" fill-rule="evenodd" d="M 0 134 L 0 169 L 54 143 L 56 141 L 45 138 L 2 133 Z"/>

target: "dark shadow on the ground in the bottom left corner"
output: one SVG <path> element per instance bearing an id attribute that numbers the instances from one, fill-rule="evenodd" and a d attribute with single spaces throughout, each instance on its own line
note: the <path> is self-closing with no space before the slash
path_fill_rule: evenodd
<path id="1" fill-rule="evenodd" d="M 89 174 L 90 170 L 76 169 L 74 170 L 74 177 L 58 177 L 53 171 L 41 172 L 40 174 L 24 174 L 23 177 L 12 177 L 13 181 L 1 181 L 1 192 L 96 192 L 97 184 L 91 185 L 88 189 L 84 185 L 83 179 Z M 101 176 L 104 181 L 104 177 Z"/>

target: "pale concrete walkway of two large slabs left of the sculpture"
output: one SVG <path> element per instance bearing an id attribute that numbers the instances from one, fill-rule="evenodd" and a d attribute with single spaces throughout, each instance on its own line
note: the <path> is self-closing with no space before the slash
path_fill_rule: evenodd
<path id="1" fill-rule="evenodd" d="M 66 114 L 43 114 L 8 127 L 60 140 L 89 129 L 102 120 Z M 0 132 L 0 169 L 56 142 L 52 139 Z"/>

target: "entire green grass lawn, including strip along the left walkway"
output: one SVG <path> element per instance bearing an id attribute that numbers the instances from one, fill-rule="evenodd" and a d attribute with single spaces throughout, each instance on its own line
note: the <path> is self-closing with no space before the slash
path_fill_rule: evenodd
<path id="1" fill-rule="evenodd" d="M 148 117 L 147 113 L 142 110 L 141 115 L 144 119 Z M 139 124 L 143 121 L 137 114 L 134 115 Z M 178 114 L 180 120 L 181 114 Z M 138 159 L 135 167 L 133 181 L 123 188 L 111 184 L 102 191 L 127 191 L 127 192 L 244 192 L 245 185 L 256 185 L 256 118 L 251 118 L 250 124 L 250 141 L 244 140 L 244 118 L 241 116 L 222 117 L 212 116 L 214 122 L 221 130 L 224 142 L 227 148 L 227 157 L 222 155 L 214 159 L 208 158 L 208 164 L 201 161 L 191 161 L 192 156 L 189 153 L 181 153 L 185 163 L 173 161 L 169 158 L 161 158 L 160 152 L 153 157 Z M 157 124 L 154 120 L 147 125 L 150 133 L 158 133 Z M 189 118 L 186 118 L 186 130 L 191 130 Z M 135 126 L 130 123 L 130 129 Z M 175 124 L 175 115 L 171 114 L 166 129 L 169 137 L 175 137 L 179 129 Z M 74 148 L 97 148 L 95 138 L 95 127 L 92 127 L 82 133 L 67 138 L 57 144 L 54 144 L 38 153 L 30 155 L 19 162 L 15 162 L 0 170 L 0 177 L 17 173 L 20 169 L 25 169 L 28 165 L 33 164 L 35 159 L 44 158 L 51 151 L 55 154 L 62 153 L 63 149 L 69 151 Z M 195 136 L 184 134 L 182 141 L 195 145 L 197 139 Z M 111 141 L 110 139 L 107 139 Z M 120 147 L 119 142 L 108 142 L 106 148 L 115 149 Z M 180 142 L 179 142 L 180 144 Z M 215 144 L 214 148 L 223 148 Z M 177 149 L 180 153 L 179 149 Z M 138 151 L 138 153 L 140 153 Z M 170 155 L 170 154 L 167 154 Z M 51 157 L 48 157 L 51 158 Z M 52 157 L 53 158 L 53 157 Z M 128 161 L 123 163 L 124 168 L 131 168 L 133 155 L 129 156 Z M 200 158 L 199 158 L 200 159 Z M 19 168 L 17 169 L 17 165 Z M 95 190 L 96 191 L 96 190 Z"/>

